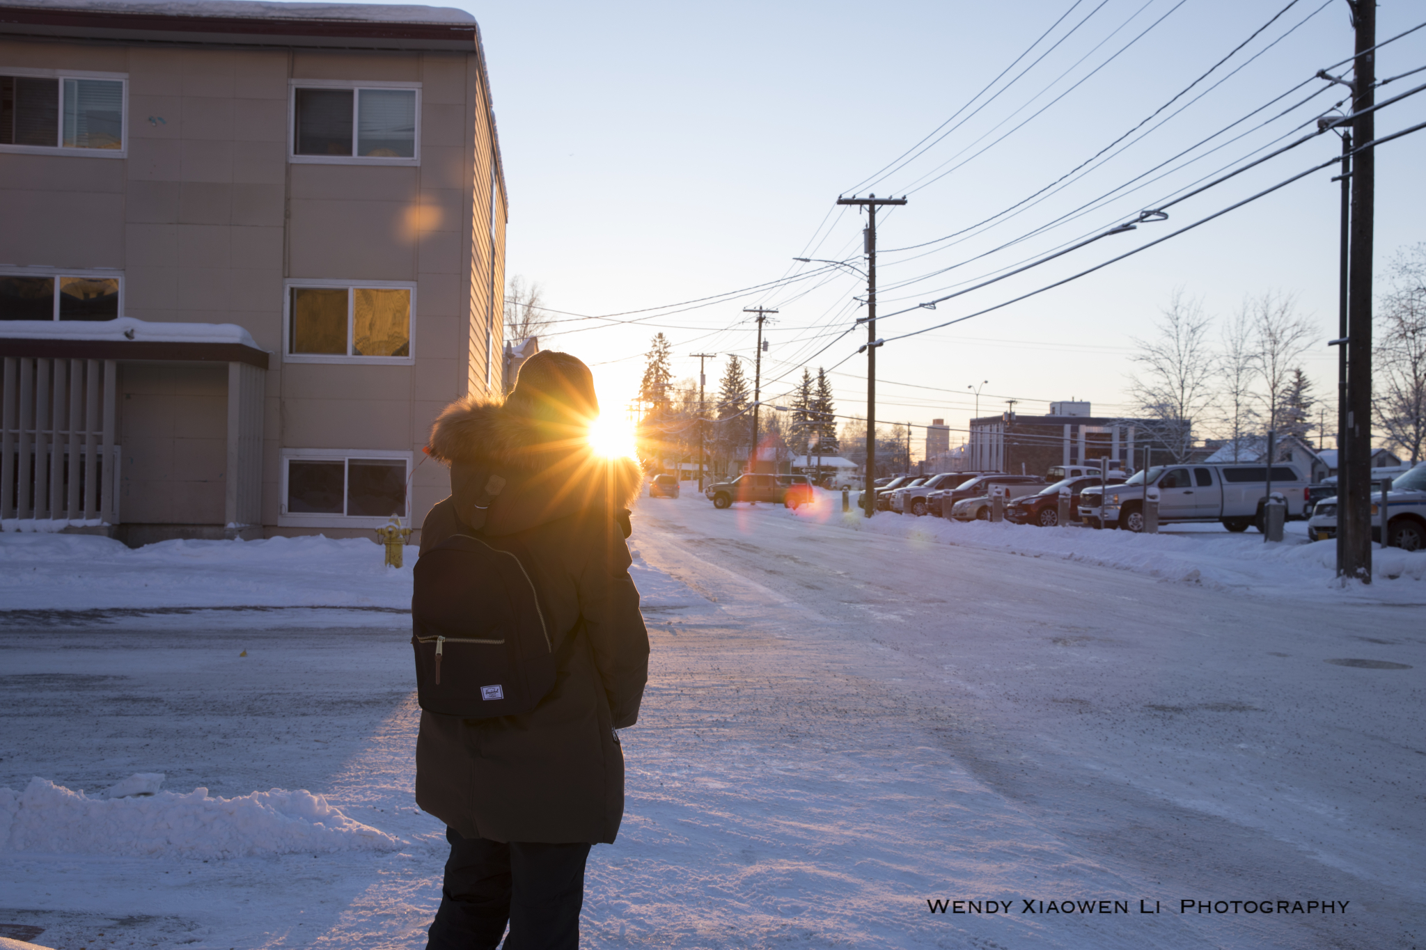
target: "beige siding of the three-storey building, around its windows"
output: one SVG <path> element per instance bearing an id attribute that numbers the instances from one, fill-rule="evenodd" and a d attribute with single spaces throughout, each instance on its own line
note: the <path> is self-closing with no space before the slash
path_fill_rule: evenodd
<path id="1" fill-rule="evenodd" d="M 124 160 L 0 154 L 7 216 L 37 222 L 0 229 L 0 263 L 121 269 L 127 316 L 238 323 L 272 352 L 270 533 L 294 533 L 277 528 L 282 449 L 421 460 L 448 402 L 498 395 L 505 208 L 492 246 L 495 141 L 476 54 L 6 40 L 7 64 L 125 73 L 128 142 Z M 421 83 L 421 164 L 289 164 L 291 78 Z M 285 363 L 288 278 L 414 283 L 415 365 Z M 124 521 L 221 524 L 225 367 L 124 365 L 121 380 Z M 412 486 L 419 526 L 449 481 L 428 463 Z M 349 533 L 297 533 L 312 530 Z"/>

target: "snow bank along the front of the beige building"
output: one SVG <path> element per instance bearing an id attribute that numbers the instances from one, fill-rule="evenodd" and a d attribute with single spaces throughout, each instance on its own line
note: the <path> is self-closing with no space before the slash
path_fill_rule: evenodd
<path id="1" fill-rule="evenodd" d="M 0 533 L 6 610 L 113 607 L 411 607 L 411 565 L 385 567 L 365 538 L 160 541 Z"/>

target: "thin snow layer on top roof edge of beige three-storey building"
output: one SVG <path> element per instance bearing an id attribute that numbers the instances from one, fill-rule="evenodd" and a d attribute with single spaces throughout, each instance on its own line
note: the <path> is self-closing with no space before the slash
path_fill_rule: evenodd
<path id="1" fill-rule="evenodd" d="M 4 0 L 7 7 L 147 13 L 247 20 L 361 20 L 368 23 L 475 23 L 465 10 L 395 3 L 260 3 L 257 0 Z"/>

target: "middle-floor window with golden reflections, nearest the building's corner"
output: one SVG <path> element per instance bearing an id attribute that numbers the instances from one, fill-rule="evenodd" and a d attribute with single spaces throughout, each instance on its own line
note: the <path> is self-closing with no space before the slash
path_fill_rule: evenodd
<path id="1" fill-rule="evenodd" d="M 287 362 L 412 362 L 415 285 L 289 281 Z"/>

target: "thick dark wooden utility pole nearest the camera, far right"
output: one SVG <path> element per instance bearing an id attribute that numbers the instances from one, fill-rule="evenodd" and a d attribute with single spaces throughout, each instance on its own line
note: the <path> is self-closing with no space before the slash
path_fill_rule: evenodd
<path id="1" fill-rule="evenodd" d="M 1376 0 L 1355 0 L 1352 24 L 1356 27 L 1356 61 L 1352 67 L 1352 111 L 1372 108 L 1376 95 Z M 1376 138 L 1373 114 L 1352 122 L 1353 137 L 1366 144 Z M 1375 191 L 1375 150 L 1356 155 L 1352 168 L 1352 246 L 1348 261 L 1348 332 L 1346 343 L 1346 430 L 1342 447 L 1346 463 L 1338 459 L 1338 480 L 1346 480 L 1338 499 L 1338 574 L 1363 584 L 1372 583 L 1372 209 Z M 1385 533 L 1385 531 L 1383 531 Z M 1385 537 L 1382 538 L 1386 540 Z"/>

